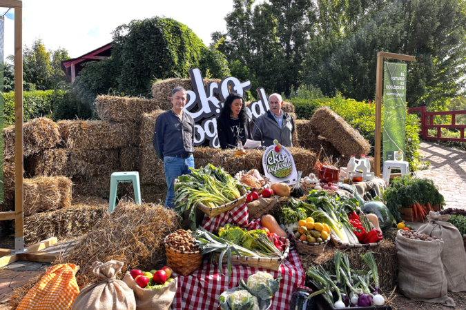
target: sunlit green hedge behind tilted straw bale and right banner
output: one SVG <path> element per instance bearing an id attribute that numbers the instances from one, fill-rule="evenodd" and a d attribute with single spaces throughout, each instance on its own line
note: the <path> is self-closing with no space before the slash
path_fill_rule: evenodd
<path id="1" fill-rule="evenodd" d="M 375 103 L 360 102 L 353 99 L 344 99 L 338 95 L 333 98 L 291 98 L 288 99 L 295 106 L 295 113 L 300 119 L 311 119 L 315 110 L 327 105 L 331 110 L 342 116 L 351 126 L 359 130 L 360 134 L 369 141 L 371 155 L 373 156 L 373 145 L 375 144 L 376 127 L 376 105 Z M 419 147 L 419 118 L 410 114 L 406 118 L 406 155 L 409 161 L 409 169 L 415 171 L 420 169 Z M 381 145 L 382 147 L 382 145 Z"/>

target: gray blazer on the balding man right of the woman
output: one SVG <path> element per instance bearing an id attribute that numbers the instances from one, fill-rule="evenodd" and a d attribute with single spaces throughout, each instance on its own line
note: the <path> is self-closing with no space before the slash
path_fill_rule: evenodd
<path id="1" fill-rule="evenodd" d="M 267 111 L 255 120 L 253 139 L 255 141 L 264 141 L 263 145 L 269 147 L 273 145 L 273 140 L 277 139 L 280 145 L 285 147 L 293 147 L 292 137 L 295 131 L 295 120 L 289 113 L 283 112 L 282 129 L 278 126 L 277 121 L 272 115 L 272 112 Z M 258 127 L 260 130 L 258 130 Z M 262 132 L 262 134 L 261 134 Z"/>

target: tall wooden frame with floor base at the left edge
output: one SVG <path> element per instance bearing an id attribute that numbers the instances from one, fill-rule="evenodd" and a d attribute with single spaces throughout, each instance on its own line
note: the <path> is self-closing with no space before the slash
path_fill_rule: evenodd
<path id="1" fill-rule="evenodd" d="M 0 220 L 14 220 L 14 250 L 0 249 L 0 267 L 17 260 L 55 260 L 55 254 L 35 253 L 57 242 L 43 240 L 24 248 L 23 227 L 23 2 L 0 0 L 0 7 L 14 9 L 14 211 L 0 212 Z M 53 258 L 53 260 L 52 260 Z"/>

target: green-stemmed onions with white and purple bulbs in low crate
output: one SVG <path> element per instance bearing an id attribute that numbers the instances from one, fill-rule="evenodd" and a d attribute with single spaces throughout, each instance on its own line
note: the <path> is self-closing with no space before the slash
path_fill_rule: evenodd
<path id="1" fill-rule="evenodd" d="M 307 275 L 319 290 L 315 293 L 322 293 L 327 302 L 337 309 L 385 304 L 385 298 L 379 292 L 376 260 L 371 252 L 361 255 L 361 258 L 369 267 L 369 272 L 351 269 L 347 254 L 341 252 L 335 253 L 331 271 L 326 271 L 320 265 L 309 268 Z"/>

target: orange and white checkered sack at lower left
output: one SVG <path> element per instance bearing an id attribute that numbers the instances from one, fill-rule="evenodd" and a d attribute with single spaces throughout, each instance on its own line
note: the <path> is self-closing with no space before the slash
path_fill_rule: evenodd
<path id="1" fill-rule="evenodd" d="M 56 265 L 30 289 L 18 306 L 18 310 L 65 310 L 71 309 L 79 294 L 75 274 L 79 266 Z"/>

